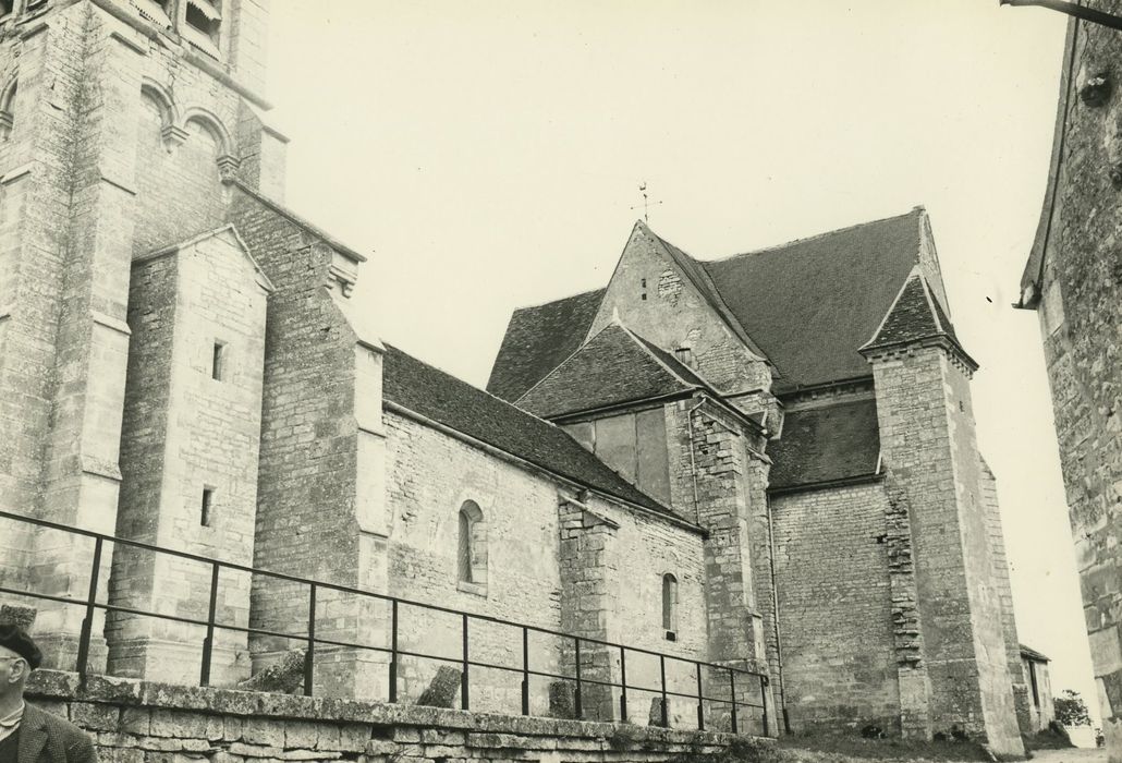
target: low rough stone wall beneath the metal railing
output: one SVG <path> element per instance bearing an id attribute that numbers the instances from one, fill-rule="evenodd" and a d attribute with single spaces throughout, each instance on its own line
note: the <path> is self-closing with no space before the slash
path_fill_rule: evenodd
<path id="1" fill-rule="evenodd" d="M 736 737 L 42 670 L 27 698 L 88 730 L 102 763 L 657 763 Z"/>

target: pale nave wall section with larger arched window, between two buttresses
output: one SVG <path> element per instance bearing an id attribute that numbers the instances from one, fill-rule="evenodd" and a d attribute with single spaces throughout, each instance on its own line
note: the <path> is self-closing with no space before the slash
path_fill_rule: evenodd
<path id="1" fill-rule="evenodd" d="M 411 419 L 393 413 L 385 419 L 387 592 L 543 628 L 561 627 L 557 486 Z M 482 512 L 485 582 L 458 580 L 459 511 L 468 500 Z M 519 629 L 482 623 L 471 627 L 471 659 L 522 668 Z M 402 649 L 461 655 L 461 623 L 454 615 L 407 607 L 399 613 L 399 628 Z M 530 645 L 535 670 L 558 672 L 557 640 L 537 634 Z M 440 664 L 403 658 L 398 696 L 419 697 Z M 521 681 L 521 673 L 480 669 L 471 675 L 471 708 L 517 713 Z M 532 688 L 532 705 L 544 714 L 548 681 L 534 679 Z"/>

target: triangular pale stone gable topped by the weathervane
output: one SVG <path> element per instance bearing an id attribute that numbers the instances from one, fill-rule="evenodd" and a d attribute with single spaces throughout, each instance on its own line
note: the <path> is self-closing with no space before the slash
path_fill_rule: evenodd
<path id="1" fill-rule="evenodd" d="M 617 311 L 627 328 L 668 352 L 690 348 L 698 371 L 721 392 L 771 386 L 767 364 L 744 347 L 642 223 L 616 265 L 589 337 Z"/>

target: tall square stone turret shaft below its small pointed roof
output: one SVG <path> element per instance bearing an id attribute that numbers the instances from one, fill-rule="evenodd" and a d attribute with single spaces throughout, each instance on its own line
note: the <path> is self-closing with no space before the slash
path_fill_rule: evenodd
<path id="1" fill-rule="evenodd" d="M 885 463 L 910 505 L 932 728 L 958 726 L 1019 754 L 968 377 L 937 347 L 873 369 Z"/>

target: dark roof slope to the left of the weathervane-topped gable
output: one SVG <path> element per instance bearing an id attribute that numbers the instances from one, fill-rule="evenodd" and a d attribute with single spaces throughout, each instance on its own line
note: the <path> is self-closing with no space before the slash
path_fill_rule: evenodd
<path id="1" fill-rule="evenodd" d="M 580 348 L 605 289 L 514 311 L 491 366 L 487 392 L 505 401 L 522 397 Z"/>

